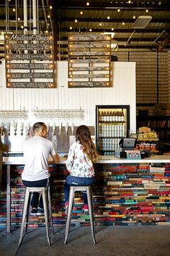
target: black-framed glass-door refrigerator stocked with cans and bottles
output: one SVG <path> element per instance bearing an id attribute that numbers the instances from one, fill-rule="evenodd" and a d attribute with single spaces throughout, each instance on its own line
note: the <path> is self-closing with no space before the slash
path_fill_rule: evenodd
<path id="1" fill-rule="evenodd" d="M 96 106 L 96 145 L 100 155 L 115 155 L 130 130 L 129 105 Z"/>

